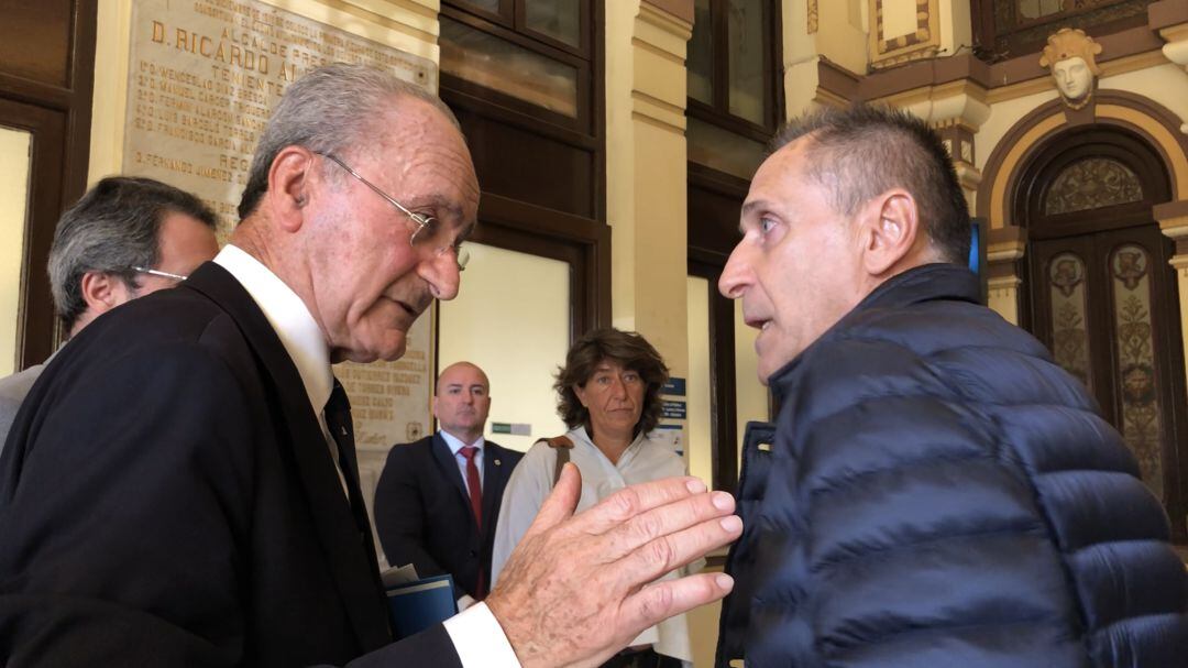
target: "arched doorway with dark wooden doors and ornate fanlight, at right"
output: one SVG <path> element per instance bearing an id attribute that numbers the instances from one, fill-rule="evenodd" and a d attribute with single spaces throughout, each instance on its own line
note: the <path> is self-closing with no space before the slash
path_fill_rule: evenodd
<path id="1" fill-rule="evenodd" d="M 1081 126 L 1036 151 L 1016 194 L 1032 333 L 1089 387 L 1188 542 L 1175 248 L 1151 216 L 1171 198 L 1163 159 L 1126 128 Z"/>

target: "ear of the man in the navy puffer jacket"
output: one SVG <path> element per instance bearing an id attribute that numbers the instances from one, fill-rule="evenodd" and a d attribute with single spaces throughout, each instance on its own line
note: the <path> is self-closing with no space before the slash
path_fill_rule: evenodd
<path id="1" fill-rule="evenodd" d="M 885 276 L 914 256 L 922 231 L 910 193 L 887 190 L 871 200 L 861 215 L 862 269 L 867 275 Z"/>

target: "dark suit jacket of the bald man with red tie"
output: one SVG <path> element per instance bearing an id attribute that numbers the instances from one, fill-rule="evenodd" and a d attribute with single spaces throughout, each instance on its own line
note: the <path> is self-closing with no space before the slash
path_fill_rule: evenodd
<path id="1" fill-rule="evenodd" d="M 523 454 L 491 441 L 482 452 L 482 531 L 449 446 L 434 434 L 394 446 L 375 487 L 375 531 L 388 563 L 412 563 L 417 574 L 449 573 L 470 595 L 479 569 L 491 586 L 491 549 L 504 487 Z"/>

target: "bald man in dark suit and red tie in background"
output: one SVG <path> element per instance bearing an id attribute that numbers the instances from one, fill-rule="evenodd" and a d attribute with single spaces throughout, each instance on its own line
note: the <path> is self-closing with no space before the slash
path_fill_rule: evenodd
<path id="1" fill-rule="evenodd" d="M 475 600 L 491 585 L 491 549 L 504 487 L 522 453 L 482 437 L 491 385 L 478 366 L 451 364 L 437 378 L 438 430 L 387 455 L 375 487 L 375 531 L 392 566 L 449 573 Z M 475 503 L 478 497 L 478 503 Z"/>

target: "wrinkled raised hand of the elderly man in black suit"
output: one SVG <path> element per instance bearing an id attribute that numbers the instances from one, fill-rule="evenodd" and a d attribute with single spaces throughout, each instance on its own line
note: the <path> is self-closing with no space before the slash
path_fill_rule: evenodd
<path id="1" fill-rule="evenodd" d="M 728 493 L 668 478 L 575 516 L 580 496 L 581 474 L 567 464 L 487 597 L 524 668 L 598 666 L 644 629 L 734 585 L 722 573 L 655 581 L 738 538 L 742 522 Z"/>

